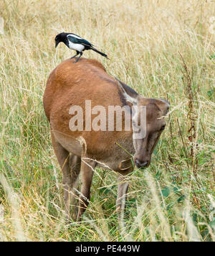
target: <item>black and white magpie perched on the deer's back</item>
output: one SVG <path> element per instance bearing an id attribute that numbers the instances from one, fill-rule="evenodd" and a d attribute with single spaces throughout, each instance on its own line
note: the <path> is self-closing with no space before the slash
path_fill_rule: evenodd
<path id="1" fill-rule="evenodd" d="M 75 60 L 75 63 L 81 58 L 84 50 L 94 50 L 95 52 L 99 53 L 100 55 L 104 56 L 105 58 L 108 58 L 108 56 L 100 52 L 99 50 L 95 49 L 95 45 L 92 45 L 87 40 L 83 39 L 82 37 L 72 34 L 72 33 L 65 33 L 62 32 L 58 34 L 55 37 L 55 48 L 59 44 L 59 42 L 64 42 L 67 47 L 69 47 L 72 50 L 76 50 L 76 55 L 72 56 L 72 58 L 75 58 L 77 55 L 80 55 L 77 60 Z M 72 59 L 71 58 L 71 59 Z"/>

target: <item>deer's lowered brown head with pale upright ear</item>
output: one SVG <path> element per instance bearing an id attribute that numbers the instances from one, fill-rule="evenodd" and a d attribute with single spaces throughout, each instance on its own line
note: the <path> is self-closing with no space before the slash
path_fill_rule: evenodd
<path id="1" fill-rule="evenodd" d="M 151 155 L 161 133 L 165 129 L 164 116 L 170 104 L 164 99 L 148 99 L 118 81 L 125 100 L 133 105 L 132 127 L 135 148 L 134 163 L 138 168 L 146 168 L 151 163 Z"/>

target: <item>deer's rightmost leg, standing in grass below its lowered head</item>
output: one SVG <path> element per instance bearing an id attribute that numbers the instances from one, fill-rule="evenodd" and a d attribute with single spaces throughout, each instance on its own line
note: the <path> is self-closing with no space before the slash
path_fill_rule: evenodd
<path id="1" fill-rule="evenodd" d="M 118 198 L 116 201 L 116 210 L 118 212 L 119 221 L 123 219 L 125 212 L 125 201 L 128 193 L 128 182 L 125 177 L 118 175 Z"/>

